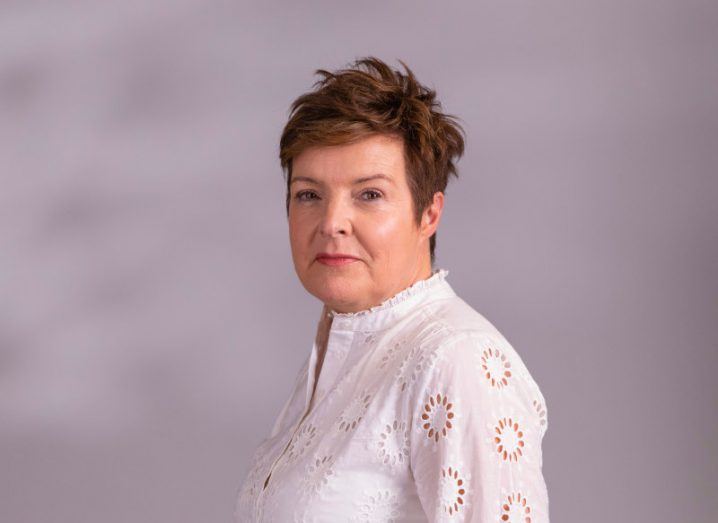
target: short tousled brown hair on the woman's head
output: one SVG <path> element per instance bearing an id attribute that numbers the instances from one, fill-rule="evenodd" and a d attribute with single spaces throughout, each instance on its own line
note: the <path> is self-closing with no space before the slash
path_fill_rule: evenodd
<path id="1" fill-rule="evenodd" d="M 335 72 L 315 71 L 323 78 L 292 103 L 279 142 L 287 174 L 287 215 L 292 159 L 311 146 L 348 144 L 376 134 L 401 138 L 417 226 L 434 193 L 445 192 L 449 175 L 458 178 L 455 160 L 464 153 L 464 129 L 457 117 L 441 112 L 436 92 L 399 62 L 406 74 L 373 56 Z M 432 267 L 435 248 L 436 233 L 429 241 Z"/>

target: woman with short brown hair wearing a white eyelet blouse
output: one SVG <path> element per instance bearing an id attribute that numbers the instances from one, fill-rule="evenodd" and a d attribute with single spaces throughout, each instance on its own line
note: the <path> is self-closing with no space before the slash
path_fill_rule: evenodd
<path id="1" fill-rule="evenodd" d="M 320 69 L 292 105 L 292 258 L 324 307 L 237 521 L 548 521 L 542 393 L 434 268 L 463 129 L 401 63 Z"/>

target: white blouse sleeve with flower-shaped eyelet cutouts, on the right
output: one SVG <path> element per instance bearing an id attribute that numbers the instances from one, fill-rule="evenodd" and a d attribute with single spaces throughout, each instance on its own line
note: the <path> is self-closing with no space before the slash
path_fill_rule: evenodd
<path id="1" fill-rule="evenodd" d="M 442 343 L 412 395 L 410 460 L 431 522 L 548 523 L 545 400 L 511 345 L 460 333 Z"/>

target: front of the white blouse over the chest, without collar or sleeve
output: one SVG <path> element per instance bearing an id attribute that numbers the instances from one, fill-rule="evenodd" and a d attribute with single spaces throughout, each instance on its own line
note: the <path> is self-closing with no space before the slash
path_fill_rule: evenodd
<path id="1" fill-rule="evenodd" d="M 294 402 L 293 423 L 258 449 L 245 482 L 251 516 L 240 521 L 425 521 L 409 463 L 409 392 L 430 357 L 413 336 L 361 342 L 360 354 L 325 354 L 308 408 Z"/>

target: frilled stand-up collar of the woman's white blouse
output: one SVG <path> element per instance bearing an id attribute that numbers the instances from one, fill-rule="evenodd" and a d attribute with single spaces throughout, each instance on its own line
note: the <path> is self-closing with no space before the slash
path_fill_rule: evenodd
<path id="1" fill-rule="evenodd" d="M 415 310 L 420 304 L 440 298 L 455 296 L 446 277 L 448 269 L 434 269 L 429 278 L 414 282 L 385 301 L 357 312 L 330 310 L 333 318 L 332 331 L 378 331 L 388 328 Z"/>

